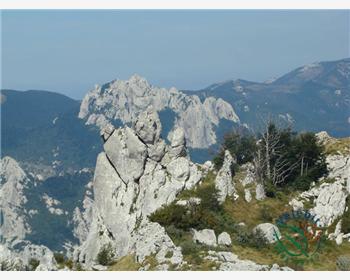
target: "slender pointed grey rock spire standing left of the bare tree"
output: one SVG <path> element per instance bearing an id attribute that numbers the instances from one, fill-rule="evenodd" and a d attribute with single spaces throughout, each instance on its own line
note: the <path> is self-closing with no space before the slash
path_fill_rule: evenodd
<path id="1" fill-rule="evenodd" d="M 238 198 L 232 181 L 231 167 L 234 160 L 228 150 L 225 151 L 224 163 L 215 179 L 215 188 L 218 190 L 218 201 L 223 203 L 228 196 Z"/>

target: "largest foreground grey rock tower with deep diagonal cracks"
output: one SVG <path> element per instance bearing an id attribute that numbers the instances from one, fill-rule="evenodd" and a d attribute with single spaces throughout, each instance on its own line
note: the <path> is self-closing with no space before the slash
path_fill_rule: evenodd
<path id="1" fill-rule="evenodd" d="M 97 158 L 93 202 L 87 208 L 92 221 L 74 252 L 75 260 L 87 268 L 107 244 L 117 259 L 135 254 L 136 261 L 142 262 L 155 254 L 159 264 L 182 262 L 181 249 L 148 216 L 173 202 L 180 191 L 193 188 L 202 173 L 182 153 L 186 150 L 182 129 L 175 130 L 170 146 L 160 139 L 161 124 L 151 107 L 133 127 L 114 129 L 104 137 L 105 151 Z M 77 220 L 84 220 L 83 215 L 77 211 Z"/>

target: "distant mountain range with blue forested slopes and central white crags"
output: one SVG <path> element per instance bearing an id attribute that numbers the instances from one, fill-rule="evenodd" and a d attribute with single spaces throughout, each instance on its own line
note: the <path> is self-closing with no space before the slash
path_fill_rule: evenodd
<path id="1" fill-rule="evenodd" d="M 164 138 L 185 130 L 194 161 L 209 159 L 232 129 L 258 131 L 273 119 L 296 130 L 350 135 L 350 59 L 297 68 L 265 83 L 229 80 L 197 91 L 150 85 L 137 75 L 97 86 L 82 102 L 47 91 L 1 90 L 1 153 L 46 176 L 94 167 L 99 129 L 132 125 L 152 106 Z"/>

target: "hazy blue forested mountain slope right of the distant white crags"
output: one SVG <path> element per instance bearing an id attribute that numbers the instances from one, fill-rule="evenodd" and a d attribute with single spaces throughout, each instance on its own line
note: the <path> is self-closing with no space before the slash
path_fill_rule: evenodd
<path id="1" fill-rule="evenodd" d="M 185 91 L 230 103 L 242 123 L 258 130 L 272 115 L 297 130 L 350 135 L 350 59 L 299 67 L 267 83 L 230 80 L 203 90 Z"/>

